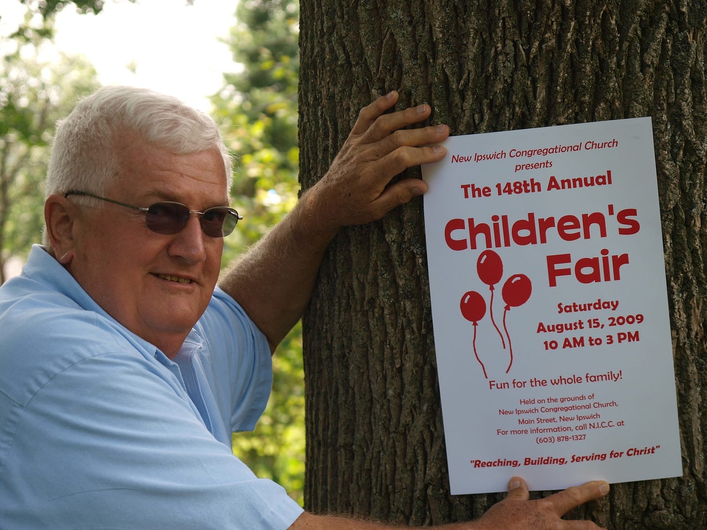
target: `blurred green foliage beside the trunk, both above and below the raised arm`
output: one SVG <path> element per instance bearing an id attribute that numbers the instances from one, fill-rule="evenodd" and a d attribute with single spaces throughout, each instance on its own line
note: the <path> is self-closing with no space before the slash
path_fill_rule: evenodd
<path id="1" fill-rule="evenodd" d="M 224 263 L 259 240 L 296 204 L 298 1 L 244 0 L 226 42 L 243 71 L 224 75 L 211 98 L 226 145 L 238 155 L 231 194 L 243 215 Z M 273 391 L 255 432 L 235 433 L 233 452 L 300 505 L 304 485 L 304 371 L 298 324 L 273 358 Z"/>

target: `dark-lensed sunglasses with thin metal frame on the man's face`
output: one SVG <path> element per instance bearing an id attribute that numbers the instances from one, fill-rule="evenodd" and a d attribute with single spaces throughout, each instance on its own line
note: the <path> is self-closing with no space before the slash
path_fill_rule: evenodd
<path id="1" fill-rule="evenodd" d="M 214 208 L 208 208 L 206 211 L 193 211 L 189 210 L 188 206 L 178 202 L 160 201 L 143 208 L 142 206 L 106 199 L 88 192 L 78 192 L 75 189 L 66 192 L 64 197 L 69 195 L 93 197 L 93 199 L 100 199 L 101 201 L 112 202 L 113 204 L 119 204 L 119 206 L 139 210 L 145 214 L 147 228 L 158 234 L 165 235 L 181 232 L 187 225 L 189 216 L 192 213 L 196 213 L 199 216 L 201 231 L 209 237 L 225 237 L 230 232 L 233 232 L 238 221 L 243 219 L 243 217 L 238 215 L 237 211 L 228 206 L 214 206 Z"/>

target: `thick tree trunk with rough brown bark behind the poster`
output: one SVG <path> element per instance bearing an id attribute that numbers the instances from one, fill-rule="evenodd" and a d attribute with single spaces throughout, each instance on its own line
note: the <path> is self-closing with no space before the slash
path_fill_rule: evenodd
<path id="1" fill-rule="evenodd" d="M 612 529 L 707 524 L 706 17 L 684 0 L 301 0 L 303 188 L 394 88 L 452 134 L 653 117 L 684 476 L 571 513 Z M 441 524 L 503 497 L 449 493 L 421 199 L 341 230 L 303 325 L 308 510 Z"/>

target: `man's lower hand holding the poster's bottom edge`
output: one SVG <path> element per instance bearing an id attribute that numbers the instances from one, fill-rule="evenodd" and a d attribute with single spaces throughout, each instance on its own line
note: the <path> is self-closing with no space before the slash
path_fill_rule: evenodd
<path id="1" fill-rule="evenodd" d="M 573 508 L 609 493 L 609 484 L 592 481 L 567 488 L 543 499 L 529 500 L 525 481 L 513 477 L 508 483 L 508 497 L 497 502 L 473 528 L 479 530 L 592 530 L 600 528 L 589 521 L 568 521 L 561 517 Z"/>

